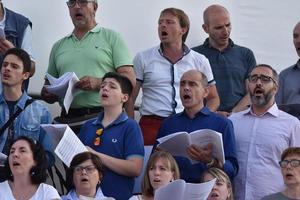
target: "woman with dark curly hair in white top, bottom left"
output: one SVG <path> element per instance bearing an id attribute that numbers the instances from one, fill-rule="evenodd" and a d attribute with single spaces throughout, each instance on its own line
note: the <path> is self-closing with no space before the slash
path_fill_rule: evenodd
<path id="1" fill-rule="evenodd" d="M 60 199 L 54 187 L 43 183 L 47 177 L 47 158 L 38 142 L 26 136 L 16 139 L 4 170 L 7 177 L 0 183 L 0 200 Z"/>

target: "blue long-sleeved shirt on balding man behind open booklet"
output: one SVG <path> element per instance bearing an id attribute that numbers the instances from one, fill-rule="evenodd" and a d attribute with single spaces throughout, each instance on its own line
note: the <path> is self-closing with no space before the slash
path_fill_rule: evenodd
<path id="1" fill-rule="evenodd" d="M 183 111 L 164 120 L 157 138 L 175 132 L 190 133 L 199 129 L 212 129 L 222 134 L 225 154 L 224 171 L 232 179 L 238 172 L 238 162 L 233 125 L 229 119 L 211 112 L 207 107 L 202 108 L 193 119 Z M 191 164 L 187 158 L 179 156 L 175 156 L 175 159 L 179 166 L 181 179 L 189 183 L 200 182 L 202 172 L 207 169 L 205 163 Z"/>

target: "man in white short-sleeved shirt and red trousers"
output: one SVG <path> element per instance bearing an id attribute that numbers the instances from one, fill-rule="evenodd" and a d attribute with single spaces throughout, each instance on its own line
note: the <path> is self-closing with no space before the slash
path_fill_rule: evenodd
<path id="1" fill-rule="evenodd" d="M 219 96 L 208 59 L 184 44 L 189 26 L 189 18 L 182 10 L 164 9 L 158 20 L 160 45 L 138 53 L 134 59 L 137 86 L 133 99 L 136 99 L 142 88 L 140 126 L 145 145 L 155 143 L 164 118 L 183 110 L 179 82 L 184 72 L 190 69 L 203 72 L 210 85 L 206 105 L 212 111 L 216 111 L 219 106 Z"/>

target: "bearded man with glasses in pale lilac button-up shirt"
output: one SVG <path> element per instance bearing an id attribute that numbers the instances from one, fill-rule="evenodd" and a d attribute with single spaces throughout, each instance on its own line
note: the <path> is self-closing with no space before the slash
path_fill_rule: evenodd
<path id="1" fill-rule="evenodd" d="M 257 200 L 282 191 L 280 155 L 300 145 L 300 122 L 275 103 L 277 72 L 269 65 L 257 65 L 248 80 L 252 105 L 230 116 L 240 165 L 234 182 L 237 200 Z"/>

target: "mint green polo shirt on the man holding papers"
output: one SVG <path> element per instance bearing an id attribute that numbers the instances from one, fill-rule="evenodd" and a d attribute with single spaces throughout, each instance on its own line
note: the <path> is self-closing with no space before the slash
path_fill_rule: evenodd
<path id="1" fill-rule="evenodd" d="M 48 73 L 60 77 L 75 72 L 78 78 L 101 78 L 120 66 L 132 65 L 132 58 L 121 36 L 99 25 L 78 40 L 70 34 L 54 44 L 49 58 Z M 74 97 L 71 108 L 97 107 L 98 91 L 83 91 Z"/>

